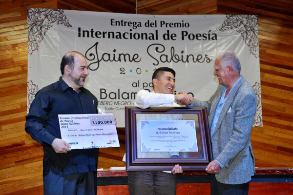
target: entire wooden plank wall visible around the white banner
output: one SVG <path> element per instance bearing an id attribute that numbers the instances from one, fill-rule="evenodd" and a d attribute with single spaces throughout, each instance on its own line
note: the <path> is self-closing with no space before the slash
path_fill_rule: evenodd
<path id="1" fill-rule="evenodd" d="M 293 1 L 137 2 L 138 14 L 258 15 L 263 127 L 252 128 L 255 164 L 256 167 L 292 168 Z M 24 131 L 27 101 L 27 7 L 136 13 L 135 0 L 0 0 L 0 195 L 42 194 L 42 146 Z M 119 129 L 118 132 L 121 147 L 101 149 L 98 168 L 125 166 L 121 161 L 125 153 L 124 129 Z M 253 185 L 257 184 L 251 184 Z M 282 190 L 282 186 L 274 185 L 275 189 Z M 202 186 L 194 187 L 194 190 L 200 192 Z M 264 187 L 265 185 L 258 186 L 253 194 L 278 194 L 273 190 L 261 190 Z M 185 188 L 186 186 L 183 187 Z M 288 192 L 283 194 L 287 195 Z"/>

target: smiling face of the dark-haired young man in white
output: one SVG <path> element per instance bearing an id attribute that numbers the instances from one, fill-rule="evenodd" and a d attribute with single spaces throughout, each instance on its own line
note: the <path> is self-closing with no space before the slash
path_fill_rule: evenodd
<path id="1" fill-rule="evenodd" d="M 154 92 L 159 94 L 173 94 L 175 89 L 175 78 L 170 72 L 163 72 L 161 76 L 153 79 Z"/>

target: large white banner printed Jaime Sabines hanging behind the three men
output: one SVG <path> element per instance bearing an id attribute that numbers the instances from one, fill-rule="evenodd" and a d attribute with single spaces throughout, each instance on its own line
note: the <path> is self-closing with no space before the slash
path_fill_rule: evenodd
<path id="1" fill-rule="evenodd" d="M 98 98 L 99 113 L 114 113 L 117 126 L 124 127 L 125 106 L 134 105 L 139 90 L 152 91 L 156 68 L 176 71 L 175 94 L 207 100 L 218 86 L 215 57 L 231 50 L 257 95 L 254 126 L 262 126 L 257 16 L 27 11 L 28 109 L 38 90 L 59 80 L 61 59 L 69 51 L 87 59 L 84 87 Z"/>

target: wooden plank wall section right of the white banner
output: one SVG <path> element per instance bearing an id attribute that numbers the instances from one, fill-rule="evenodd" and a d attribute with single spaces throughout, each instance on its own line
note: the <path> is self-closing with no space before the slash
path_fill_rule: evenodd
<path id="1" fill-rule="evenodd" d="M 259 17 L 263 127 L 253 127 L 251 133 L 256 167 L 293 166 L 292 8 L 289 0 L 217 1 L 218 14 Z"/>

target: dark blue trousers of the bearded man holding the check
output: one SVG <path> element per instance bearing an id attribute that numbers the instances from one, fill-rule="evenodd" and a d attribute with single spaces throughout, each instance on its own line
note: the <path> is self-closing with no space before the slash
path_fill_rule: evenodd
<path id="1" fill-rule="evenodd" d="M 97 195 L 97 172 L 43 177 L 44 195 Z"/>

